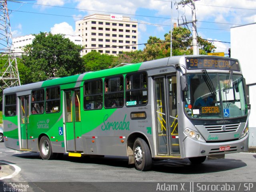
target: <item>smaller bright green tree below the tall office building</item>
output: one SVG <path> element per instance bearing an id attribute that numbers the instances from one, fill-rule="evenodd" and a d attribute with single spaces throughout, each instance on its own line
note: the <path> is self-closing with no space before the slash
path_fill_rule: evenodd
<path id="1" fill-rule="evenodd" d="M 82 57 L 86 71 L 98 71 L 111 68 L 115 56 L 108 54 L 100 54 L 96 51 L 91 51 Z"/>

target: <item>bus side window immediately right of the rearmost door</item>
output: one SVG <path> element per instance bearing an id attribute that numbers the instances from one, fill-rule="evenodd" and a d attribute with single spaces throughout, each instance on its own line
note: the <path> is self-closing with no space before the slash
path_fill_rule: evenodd
<path id="1" fill-rule="evenodd" d="M 32 91 L 31 113 L 32 114 L 44 113 L 44 90 L 43 89 Z"/>

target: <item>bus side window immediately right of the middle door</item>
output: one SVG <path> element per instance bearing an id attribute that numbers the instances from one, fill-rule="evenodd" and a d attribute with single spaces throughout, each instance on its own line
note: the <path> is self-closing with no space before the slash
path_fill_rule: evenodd
<path id="1" fill-rule="evenodd" d="M 100 51 L 100 50 L 99 50 Z M 103 93 L 102 80 L 84 83 L 84 109 L 102 109 Z"/>

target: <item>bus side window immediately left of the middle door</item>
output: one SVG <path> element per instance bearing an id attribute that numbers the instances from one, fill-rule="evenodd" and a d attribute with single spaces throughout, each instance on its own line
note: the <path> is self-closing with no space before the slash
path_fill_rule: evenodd
<path id="1" fill-rule="evenodd" d="M 60 111 L 60 87 L 46 88 L 46 113 Z"/>

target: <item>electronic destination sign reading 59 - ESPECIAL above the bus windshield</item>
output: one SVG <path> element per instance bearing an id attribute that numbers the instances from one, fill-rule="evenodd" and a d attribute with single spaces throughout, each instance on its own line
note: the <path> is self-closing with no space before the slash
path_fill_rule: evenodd
<path id="1" fill-rule="evenodd" d="M 224 69 L 240 71 L 237 60 L 229 58 L 186 58 L 188 69 Z"/>

